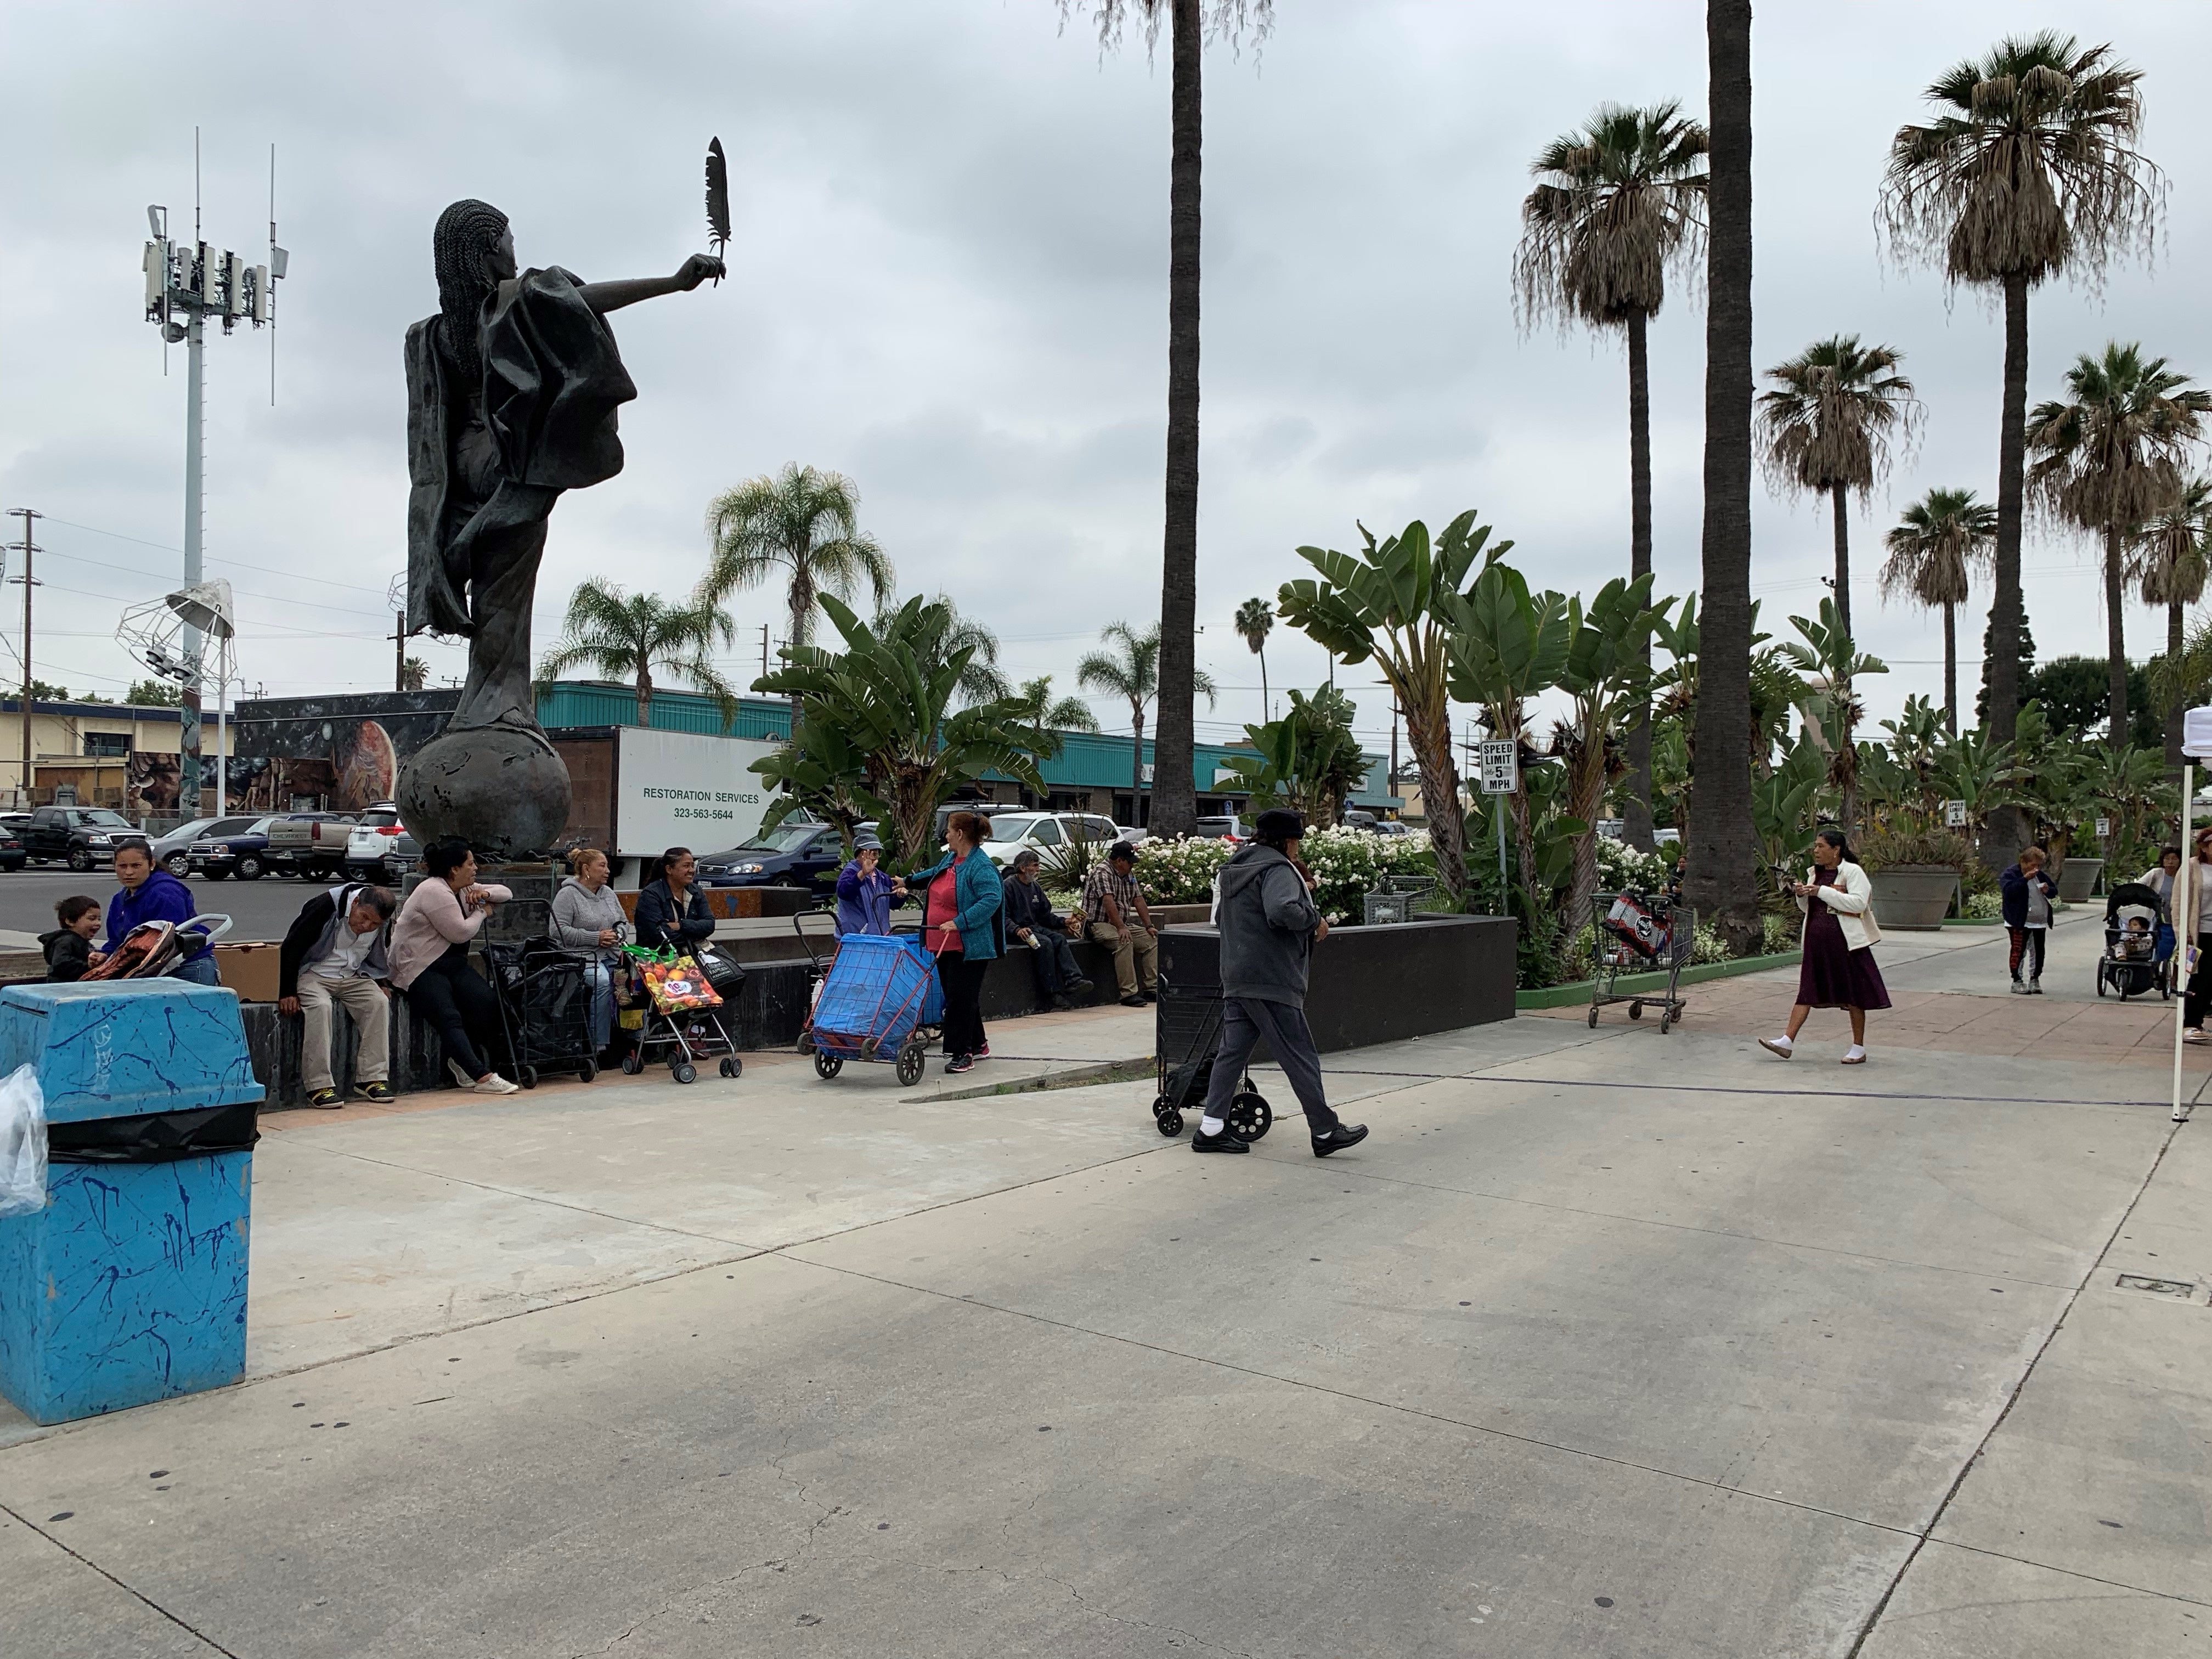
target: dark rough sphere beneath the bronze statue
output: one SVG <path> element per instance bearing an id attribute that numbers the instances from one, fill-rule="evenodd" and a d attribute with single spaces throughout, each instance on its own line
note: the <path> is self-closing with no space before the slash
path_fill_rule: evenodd
<path id="1" fill-rule="evenodd" d="M 460 836 L 478 858 L 531 858 L 568 827 L 568 768 L 542 732 L 442 732 L 400 768 L 398 810 L 425 847 Z"/>

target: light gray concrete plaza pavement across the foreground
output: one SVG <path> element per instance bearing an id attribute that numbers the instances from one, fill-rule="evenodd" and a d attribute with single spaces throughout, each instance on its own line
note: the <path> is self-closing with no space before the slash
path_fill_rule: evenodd
<path id="1" fill-rule="evenodd" d="M 1863 1068 L 1730 1029 L 1790 971 L 1332 1055 L 1329 1161 L 1270 1073 L 1239 1159 L 949 1086 L 1117 1009 L 918 1091 L 272 1117 L 250 1380 L 0 1409 L 9 1648 L 2212 1652 L 2212 1124 L 1989 956 L 1885 947 Z"/>

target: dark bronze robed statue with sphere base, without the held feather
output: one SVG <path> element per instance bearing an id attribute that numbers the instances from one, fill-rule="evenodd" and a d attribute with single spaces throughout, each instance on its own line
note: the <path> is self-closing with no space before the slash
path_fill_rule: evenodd
<path id="1" fill-rule="evenodd" d="M 460 708 L 400 774 L 407 827 L 482 854 L 551 849 L 568 768 L 538 726 L 531 595 L 564 489 L 622 471 L 615 411 L 637 396 L 606 312 L 681 294 L 723 265 L 586 283 L 515 270 L 507 215 L 456 201 L 431 241 L 438 314 L 407 330 L 407 630 L 469 641 Z"/>

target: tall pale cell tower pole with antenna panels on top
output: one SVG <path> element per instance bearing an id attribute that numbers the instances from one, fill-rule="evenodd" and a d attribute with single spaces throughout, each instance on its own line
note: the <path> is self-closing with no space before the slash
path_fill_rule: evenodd
<path id="1" fill-rule="evenodd" d="M 148 206 L 146 228 L 146 321 L 161 327 L 161 341 L 184 345 L 184 586 L 201 584 L 201 352 L 208 323 L 221 323 L 230 334 L 239 323 L 270 330 L 270 403 L 276 403 L 276 283 L 283 281 L 290 254 L 276 246 L 276 146 L 270 144 L 270 257 L 265 265 L 223 248 L 217 252 L 199 239 L 199 128 L 192 128 L 192 239 L 173 241 L 168 208 Z M 206 637 L 186 628 L 181 639 L 184 719 L 177 743 L 177 783 L 190 816 L 199 816 L 199 690 Z"/>

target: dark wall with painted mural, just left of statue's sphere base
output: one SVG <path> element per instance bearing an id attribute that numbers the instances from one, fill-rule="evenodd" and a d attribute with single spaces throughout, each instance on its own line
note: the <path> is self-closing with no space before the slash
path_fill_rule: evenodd
<path id="1" fill-rule="evenodd" d="M 458 699 L 427 690 L 239 703 L 234 807 L 358 812 L 389 801 L 400 765 L 445 730 Z"/>

